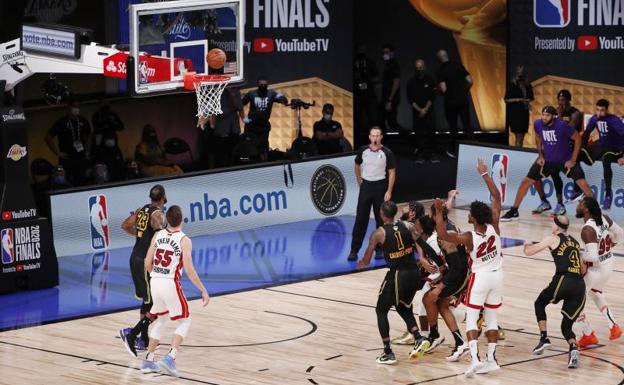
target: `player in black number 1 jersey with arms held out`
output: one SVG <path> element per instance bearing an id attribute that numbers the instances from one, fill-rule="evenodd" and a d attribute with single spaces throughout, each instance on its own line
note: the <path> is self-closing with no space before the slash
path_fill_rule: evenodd
<path id="1" fill-rule="evenodd" d="M 381 245 L 386 263 L 390 268 L 381 284 L 375 309 L 377 326 L 384 345 L 383 353 L 377 357 L 377 363 L 386 365 L 395 364 L 397 361 L 390 347 L 388 312 L 392 306 L 405 321 L 407 329 L 414 335 L 416 344 L 424 340 L 414 318 L 412 300 L 420 281 L 414 243 L 419 240 L 419 244 L 423 247 L 422 244 L 426 246 L 426 242 L 420 238 L 414 225 L 400 220 L 395 221 L 396 214 L 397 206 L 394 202 L 386 201 L 381 205 L 380 215 L 383 225 L 371 234 L 364 257 L 358 262 L 358 269 L 368 266 L 375 248 Z M 410 359 L 417 358 L 413 356 L 415 350 L 414 348 L 410 353 Z"/>

